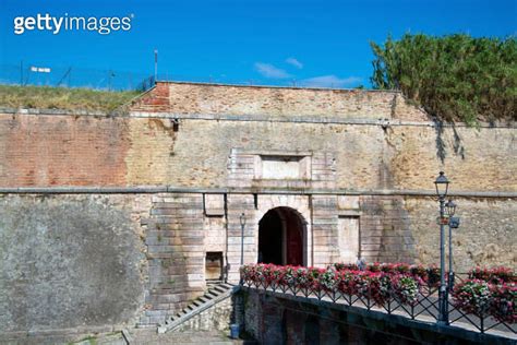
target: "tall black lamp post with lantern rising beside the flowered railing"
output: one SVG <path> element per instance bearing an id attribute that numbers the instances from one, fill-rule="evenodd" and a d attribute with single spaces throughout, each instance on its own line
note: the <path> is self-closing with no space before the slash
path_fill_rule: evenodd
<path id="1" fill-rule="evenodd" d="M 445 198 L 448 192 L 448 179 L 444 171 L 440 171 L 438 177 L 434 181 L 436 187 L 436 195 L 440 201 L 440 290 L 438 290 L 438 323 L 448 324 L 448 297 L 447 286 L 445 285 L 445 225 L 448 219 L 445 218 Z"/>

